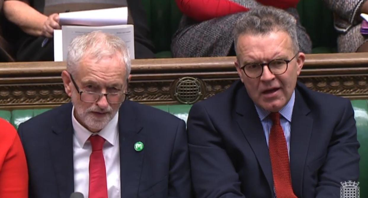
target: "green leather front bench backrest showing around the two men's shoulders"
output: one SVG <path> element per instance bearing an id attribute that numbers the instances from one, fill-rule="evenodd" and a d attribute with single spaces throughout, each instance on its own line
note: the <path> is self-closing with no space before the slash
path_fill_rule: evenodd
<path id="1" fill-rule="evenodd" d="M 368 100 L 352 100 L 351 103 L 355 112 L 358 140 L 360 142 L 360 197 L 365 198 L 368 197 Z M 154 107 L 186 121 L 191 105 L 160 105 Z M 11 112 L 1 110 L 0 117 L 10 121 L 17 128 L 20 123 L 47 110 L 49 109 L 23 109 Z"/>

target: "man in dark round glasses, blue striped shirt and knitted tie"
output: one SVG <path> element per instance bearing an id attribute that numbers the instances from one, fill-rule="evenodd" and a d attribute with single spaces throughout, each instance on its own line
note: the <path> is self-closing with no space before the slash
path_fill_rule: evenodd
<path id="1" fill-rule="evenodd" d="M 295 21 L 261 7 L 237 22 L 240 81 L 188 117 L 196 197 L 336 198 L 340 182 L 357 181 L 353 108 L 297 82 L 305 54 Z"/>

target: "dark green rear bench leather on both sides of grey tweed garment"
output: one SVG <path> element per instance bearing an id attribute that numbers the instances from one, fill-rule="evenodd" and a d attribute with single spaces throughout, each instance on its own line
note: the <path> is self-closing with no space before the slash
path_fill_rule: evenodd
<path id="1" fill-rule="evenodd" d="M 171 57 L 170 44 L 182 13 L 174 0 L 142 0 L 151 28 L 156 57 Z M 332 12 L 321 0 L 301 0 L 298 13 L 313 43 L 312 53 L 336 52 L 336 32 Z M 318 22 L 316 22 L 318 21 Z"/>

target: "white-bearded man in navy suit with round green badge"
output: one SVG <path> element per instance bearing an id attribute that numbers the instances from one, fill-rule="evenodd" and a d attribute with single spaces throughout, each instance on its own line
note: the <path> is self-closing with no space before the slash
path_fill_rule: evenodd
<path id="1" fill-rule="evenodd" d="M 191 196 L 183 120 L 126 100 L 130 57 L 116 36 L 75 38 L 63 71 L 71 103 L 21 124 L 30 198 Z"/>

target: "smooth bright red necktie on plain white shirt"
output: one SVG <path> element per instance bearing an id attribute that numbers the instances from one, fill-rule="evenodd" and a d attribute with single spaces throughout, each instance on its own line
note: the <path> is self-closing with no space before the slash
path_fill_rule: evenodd
<path id="1" fill-rule="evenodd" d="M 89 198 L 107 198 L 107 181 L 105 159 L 103 159 L 102 147 L 105 143 L 99 135 L 89 137 L 92 145 L 92 153 L 89 157 Z"/>

